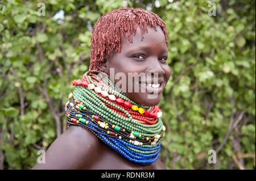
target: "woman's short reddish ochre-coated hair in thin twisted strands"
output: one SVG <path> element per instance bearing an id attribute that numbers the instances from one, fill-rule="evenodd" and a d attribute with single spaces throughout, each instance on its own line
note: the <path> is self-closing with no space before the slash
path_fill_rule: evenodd
<path id="1" fill-rule="evenodd" d="M 133 43 L 133 34 L 135 35 L 138 26 L 141 29 L 142 38 L 147 32 L 147 26 L 155 30 L 160 26 L 168 45 L 166 23 L 154 12 L 130 7 L 110 11 L 102 15 L 93 28 L 89 72 L 100 72 L 96 65 L 104 62 L 105 56 L 113 50 L 121 52 L 123 36 L 126 35 L 130 43 Z"/>

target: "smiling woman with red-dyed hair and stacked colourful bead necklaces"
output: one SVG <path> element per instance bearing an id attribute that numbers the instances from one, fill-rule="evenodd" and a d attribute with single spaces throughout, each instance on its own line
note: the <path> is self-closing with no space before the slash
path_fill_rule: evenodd
<path id="1" fill-rule="evenodd" d="M 165 169 L 157 105 L 171 75 L 167 45 L 153 12 L 123 8 L 98 19 L 89 71 L 73 81 L 66 104 L 69 128 L 33 169 Z"/>

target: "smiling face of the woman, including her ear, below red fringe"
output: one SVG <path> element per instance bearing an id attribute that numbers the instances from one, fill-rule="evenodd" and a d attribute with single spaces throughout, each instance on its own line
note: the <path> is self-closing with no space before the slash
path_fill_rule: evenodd
<path id="1" fill-rule="evenodd" d="M 171 76 L 167 64 L 166 39 L 160 27 L 156 30 L 148 27 L 142 40 L 141 29 L 138 27 L 136 35 L 133 36 L 133 43 L 123 37 L 121 53 L 110 53 L 106 57 L 103 70 L 110 78 L 113 77 L 114 70 L 114 75 L 118 75 L 114 82 L 122 82 L 119 86 L 121 90 L 126 92 L 130 99 L 145 106 L 155 106 L 160 102 L 163 88 Z M 138 89 L 135 89 L 136 86 Z"/>

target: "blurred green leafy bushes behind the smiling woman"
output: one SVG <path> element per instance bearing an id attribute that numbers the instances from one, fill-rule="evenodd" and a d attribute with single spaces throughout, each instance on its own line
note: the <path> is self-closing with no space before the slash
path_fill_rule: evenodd
<path id="1" fill-rule="evenodd" d="M 30 169 L 66 130 L 92 28 L 124 6 L 167 24 L 167 169 L 255 169 L 255 1 L 247 0 L 0 0 L 0 169 Z"/>

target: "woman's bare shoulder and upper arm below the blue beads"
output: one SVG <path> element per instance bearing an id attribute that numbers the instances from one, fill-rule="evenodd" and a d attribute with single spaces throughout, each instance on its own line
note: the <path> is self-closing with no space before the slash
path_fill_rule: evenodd
<path id="1" fill-rule="evenodd" d="M 92 155 L 100 152 L 100 140 L 86 128 L 71 126 L 46 151 L 46 163 L 32 169 L 90 169 Z"/>

